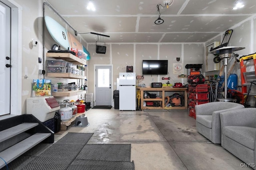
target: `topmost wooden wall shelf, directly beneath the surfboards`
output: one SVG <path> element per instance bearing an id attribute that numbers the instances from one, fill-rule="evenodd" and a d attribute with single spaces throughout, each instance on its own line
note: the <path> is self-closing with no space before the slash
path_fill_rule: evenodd
<path id="1" fill-rule="evenodd" d="M 86 65 L 86 61 L 82 60 L 71 53 L 46 53 L 46 57 L 52 57 L 54 59 L 61 59 L 73 64 Z"/>

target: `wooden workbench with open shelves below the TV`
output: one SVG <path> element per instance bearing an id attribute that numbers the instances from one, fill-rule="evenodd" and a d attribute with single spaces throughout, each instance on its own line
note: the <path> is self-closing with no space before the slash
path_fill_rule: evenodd
<path id="1" fill-rule="evenodd" d="M 164 98 L 165 98 L 165 92 L 166 91 L 172 91 L 172 92 L 182 92 L 184 93 L 184 106 L 175 106 L 172 107 L 173 109 L 188 109 L 188 92 L 187 88 L 138 88 L 140 90 L 140 106 L 141 108 L 145 109 L 165 109 L 164 107 Z M 162 93 L 162 98 L 146 98 L 144 99 L 144 91 L 146 92 L 161 92 Z M 144 101 L 160 101 L 162 102 L 161 107 L 149 107 L 149 106 L 143 106 Z"/>

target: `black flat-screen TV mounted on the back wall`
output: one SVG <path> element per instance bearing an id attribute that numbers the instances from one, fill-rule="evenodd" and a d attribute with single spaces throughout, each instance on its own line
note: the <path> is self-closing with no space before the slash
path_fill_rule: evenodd
<path id="1" fill-rule="evenodd" d="M 166 75 L 168 74 L 168 60 L 143 60 L 143 75 Z"/>

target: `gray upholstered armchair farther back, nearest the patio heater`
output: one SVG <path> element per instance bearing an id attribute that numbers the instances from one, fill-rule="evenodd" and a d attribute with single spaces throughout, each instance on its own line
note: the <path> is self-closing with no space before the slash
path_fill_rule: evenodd
<path id="1" fill-rule="evenodd" d="M 196 105 L 196 130 L 212 143 L 221 143 L 220 112 L 244 108 L 232 102 L 210 102 Z"/>

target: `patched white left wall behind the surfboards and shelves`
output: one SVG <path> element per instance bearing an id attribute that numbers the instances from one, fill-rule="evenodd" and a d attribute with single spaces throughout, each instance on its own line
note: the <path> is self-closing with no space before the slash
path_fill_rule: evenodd
<path id="1" fill-rule="evenodd" d="M 26 98 L 29 98 L 31 96 L 33 79 L 43 78 L 41 74 L 38 74 L 38 70 L 43 68 L 43 63 L 38 63 L 38 57 L 40 57 L 43 61 L 42 19 L 43 2 L 45 1 L 15 0 L 15 2 L 22 6 L 22 63 L 20 63 L 22 64 L 22 70 L 20 71 L 22 72 L 22 114 L 24 114 L 26 113 Z M 54 18 L 54 20 L 58 21 L 62 26 L 68 29 L 68 31 L 72 33 L 74 32 L 48 6 L 45 6 L 45 15 Z M 32 45 L 32 39 L 38 41 L 37 46 Z M 79 35 L 78 40 L 86 47 L 85 41 L 80 39 Z M 45 53 L 50 50 L 52 45 L 54 44 L 55 41 L 52 39 L 47 31 L 47 28 L 45 27 Z M 46 57 L 44 58 L 44 60 L 46 60 Z M 25 75 L 28 77 L 25 78 Z M 74 81 L 64 78 L 47 79 L 51 79 L 53 83 L 68 83 Z M 64 99 L 66 98 L 57 98 L 57 100 L 59 101 L 62 101 Z M 69 99 L 76 100 L 77 96 Z"/>

